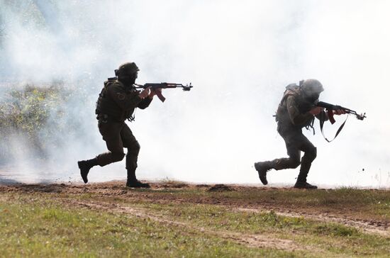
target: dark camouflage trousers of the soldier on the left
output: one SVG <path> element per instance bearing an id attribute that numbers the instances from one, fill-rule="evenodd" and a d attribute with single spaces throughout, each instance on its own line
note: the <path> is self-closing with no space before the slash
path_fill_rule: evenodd
<path id="1" fill-rule="evenodd" d="M 135 139 L 125 122 L 99 120 L 99 132 L 106 142 L 108 152 L 96 156 L 99 166 L 103 167 L 113 162 L 119 162 L 125 157 L 123 147 L 128 149 L 126 154 L 126 169 L 136 169 L 140 144 Z"/>

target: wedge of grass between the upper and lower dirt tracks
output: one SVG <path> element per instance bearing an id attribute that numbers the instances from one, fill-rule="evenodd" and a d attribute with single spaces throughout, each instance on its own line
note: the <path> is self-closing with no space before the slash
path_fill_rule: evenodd
<path id="1" fill-rule="evenodd" d="M 133 206 L 133 203 L 131 204 Z M 325 249 L 330 254 L 390 253 L 390 238 L 369 235 L 338 223 L 322 223 L 303 217 L 291 218 L 274 212 L 229 211 L 209 205 L 148 204 L 149 211 L 168 218 L 186 221 L 198 227 L 245 234 L 261 234 L 296 241 L 302 246 Z"/>

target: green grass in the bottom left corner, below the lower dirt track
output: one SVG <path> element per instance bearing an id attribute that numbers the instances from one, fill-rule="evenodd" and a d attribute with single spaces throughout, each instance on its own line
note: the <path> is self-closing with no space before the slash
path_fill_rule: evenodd
<path id="1" fill-rule="evenodd" d="M 24 200 L 24 201 L 23 201 Z M 288 257 L 133 215 L 19 198 L 0 204 L 0 257 Z"/>

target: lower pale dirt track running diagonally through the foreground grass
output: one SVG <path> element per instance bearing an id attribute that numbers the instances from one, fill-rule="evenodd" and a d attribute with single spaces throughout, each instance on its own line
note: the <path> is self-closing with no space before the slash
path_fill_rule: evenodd
<path id="1" fill-rule="evenodd" d="M 60 199 L 59 201 L 64 202 L 64 199 Z M 272 248 L 272 249 L 282 249 L 286 251 L 299 251 L 299 250 L 310 250 L 312 252 L 323 253 L 322 249 L 317 249 L 316 247 L 305 246 L 302 247 L 299 244 L 296 244 L 293 240 L 285 240 L 280 238 L 275 238 L 269 235 L 251 235 L 244 234 L 240 232 L 228 232 L 221 230 L 210 230 L 206 228 L 199 228 L 194 225 L 190 225 L 189 223 L 184 223 L 182 221 L 172 220 L 169 218 L 165 218 L 161 215 L 156 215 L 151 213 L 147 209 L 143 208 L 131 208 L 128 206 L 120 206 L 116 203 L 104 203 L 104 202 L 87 202 L 87 201 L 77 201 L 74 199 L 67 199 L 65 205 L 72 204 L 74 206 L 80 206 L 84 208 L 89 208 L 93 210 L 103 210 L 110 213 L 124 213 L 127 215 L 133 215 L 138 218 L 145 218 L 154 220 L 158 223 L 166 223 L 169 225 L 175 225 L 183 228 L 187 228 L 189 230 L 195 230 L 198 232 L 206 233 L 207 235 L 212 235 L 215 237 L 221 237 L 225 240 L 232 240 L 233 242 L 237 242 L 241 245 L 246 245 L 248 247 L 256 247 L 256 248 Z"/>

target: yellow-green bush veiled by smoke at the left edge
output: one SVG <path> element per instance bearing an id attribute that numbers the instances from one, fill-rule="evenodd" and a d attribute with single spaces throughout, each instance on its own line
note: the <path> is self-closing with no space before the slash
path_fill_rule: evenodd
<path id="1" fill-rule="evenodd" d="M 13 142 L 33 150 L 36 157 L 48 155 L 48 145 L 57 145 L 57 135 L 65 132 L 64 118 L 72 91 L 64 86 L 30 86 L 10 89 L 0 98 L 0 162 L 12 161 Z"/>

